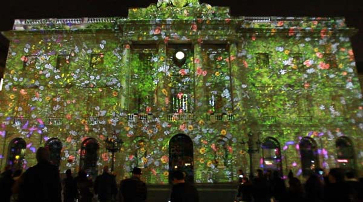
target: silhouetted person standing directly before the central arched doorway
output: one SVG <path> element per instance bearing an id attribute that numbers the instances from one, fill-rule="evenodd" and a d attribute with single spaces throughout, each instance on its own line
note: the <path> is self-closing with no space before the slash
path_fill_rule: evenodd
<path id="1" fill-rule="evenodd" d="M 182 172 L 174 171 L 171 178 L 174 184 L 171 189 L 171 202 L 199 202 L 197 189 L 185 182 Z"/>

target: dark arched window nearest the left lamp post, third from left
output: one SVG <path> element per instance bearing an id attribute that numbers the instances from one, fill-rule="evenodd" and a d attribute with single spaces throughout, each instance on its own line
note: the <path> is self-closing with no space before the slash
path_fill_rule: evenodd
<path id="1" fill-rule="evenodd" d="M 79 169 L 92 177 L 97 176 L 98 149 L 98 142 L 94 138 L 87 138 L 82 142 Z"/>

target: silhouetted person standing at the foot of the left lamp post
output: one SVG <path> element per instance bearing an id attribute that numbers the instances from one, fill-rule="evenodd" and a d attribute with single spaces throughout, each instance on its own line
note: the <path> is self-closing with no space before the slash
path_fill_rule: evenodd
<path id="1" fill-rule="evenodd" d="M 96 178 L 94 192 L 98 194 L 98 199 L 101 202 L 111 202 L 112 198 L 117 194 L 115 176 L 109 173 L 107 165 L 103 167 L 103 173 Z"/>

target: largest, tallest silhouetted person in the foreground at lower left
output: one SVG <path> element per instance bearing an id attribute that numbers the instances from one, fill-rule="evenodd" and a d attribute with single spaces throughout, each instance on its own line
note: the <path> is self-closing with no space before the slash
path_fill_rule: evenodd
<path id="1" fill-rule="evenodd" d="M 28 168 L 20 180 L 20 202 L 61 202 L 59 171 L 49 161 L 49 151 L 39 147 L 36 153 L 38 163 Z"/>

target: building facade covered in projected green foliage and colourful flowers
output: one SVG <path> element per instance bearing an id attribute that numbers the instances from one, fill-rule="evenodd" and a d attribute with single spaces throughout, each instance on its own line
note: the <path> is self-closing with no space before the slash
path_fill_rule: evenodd
<path id="1" fill-rule="evenodd" d="M 16 20 L 1 91 L 1 169 L 183 169 L 198 183 L 254 169 L 361 169 L 363 103 L 344 18 L 231 17 L 197 0 L 124 18 Z M 245 143 L 245 144 L 244 144 Z"/>

